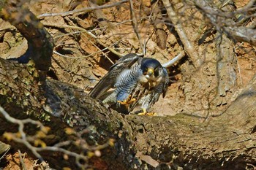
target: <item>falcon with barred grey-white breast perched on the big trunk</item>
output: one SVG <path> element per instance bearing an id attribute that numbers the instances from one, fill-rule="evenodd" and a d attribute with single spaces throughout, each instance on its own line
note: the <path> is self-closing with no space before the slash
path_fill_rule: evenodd
<path id="1" fill-rule="evenodd" d="M 110 67 L 89 96 L 125 114 L 141 106 L 139 115 L 146 115 L 161 94 L 165 97 L 168 83 L 167 69 L 159 61 L 130 53 Z"/>

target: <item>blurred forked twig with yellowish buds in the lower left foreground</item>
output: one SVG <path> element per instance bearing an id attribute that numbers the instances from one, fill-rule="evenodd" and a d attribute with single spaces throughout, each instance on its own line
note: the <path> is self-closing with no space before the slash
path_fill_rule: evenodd
<path id="1" fill-rule="evenodd" d="M 91 158 L 92 155 L 99 155 L 98 153 L 94 152 L 99 152 L 99 150 L 102 150 L 108 146 L 110 146 L 113 142 L 111 142 L 112 139 L 110 139 L 110 142 L 107 142 L 105 144 L 98 144 L 97 146 L 90 146 L 89 144 L 86 143 L 86 140 L 83 139 L 83 134 L 85 132 L 89 132 L 88 128 L 84 129 L 83 131 L 80 131 L 76 134 L 74 130 L 71 128 L 66 129 L 67 134 L 74 134 L 77 136 L 77 139 L 74 141 L 65 141 L 65 142 L 60 142 L 55 144 L 53 147 L 47 146 L 41 139 L 46 137 L 46 134 L 48 134 L 48 131 L 50 131 L 50 128 L 45 127 L 40 123 L 39 121 L 31 120 L 31 119 L 25 119 L 25 120 L 18 120 L 15 119 L 14 117 L 11 117 L 1 106 L 0 106 L 0 113 L 4 115 L 5 119 L 10 121 L 11 123 L 18 124 L 18 134 L 15 133 L 8 133 L 6 132 L 4 134 L 4 137 L 7 138 L 8 140 L 13 140 L 15 142 L 19 142 L 21 144 L 25 144 L 26 147 L 31 150 L 31 152 L 39 158 L 40 161 L 44 161 L 44 158 L 42 158 L 42 155 L 39 154 L 39 152 L 45 152 L 45 151 L 52 151 L 52 152 L 62 152 L 65 155 L 69 155 L 72 157 L 75 157 L 75 160 L 77 161 L 77 165 L 80 168 L 87 168 L 89 165 L 88 161 L 89 158 Z M 37 125 L 41 129 L 39 133 L 35 134 L 34 136 L 29 136 L 28 134 L 25 133 L 24 131 L 24 126 L 26 123 L 31 123 L 34 125 Z M 64 129 L 65 130 L 65 129 Z M 43 133 L 43 134 L 42 134 Z M 34 142 L 36 146 L 33 146 L 30 142 Z M 75 146 L 83 150 L 83 152 L 88 152 L 91 151 L 91 156 L 90 155 L 83 155 L 81 153 L 69 151 L 67 149 L 64 149 L 62 147 L 67 147 L 67 146 Z M 40 147 L 39 147 L 40 146 Z M 81 164 L 80 161 L 83 160 L 86 162 L 86 164 Z M 23 166 L 22 158 L 20 158 L 20 162 Z"/>

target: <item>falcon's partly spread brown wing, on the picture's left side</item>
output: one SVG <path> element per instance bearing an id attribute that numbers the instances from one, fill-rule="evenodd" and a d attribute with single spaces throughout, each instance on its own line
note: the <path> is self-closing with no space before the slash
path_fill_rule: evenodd
<path id="1" fill-rule="evenodd" d="M 106 93 L 110 88 L 116 83 L 116 78 L 121 74 L 124 69 L 129 69 L 140 57 L 134 53 L 124 55 L 116 63 L 110 67 L 110 70 L 101 80 L 94 86 L 94 88 L 89 93 L 89 96 L 93 98 L 100 98 L 104 93 Z"/>

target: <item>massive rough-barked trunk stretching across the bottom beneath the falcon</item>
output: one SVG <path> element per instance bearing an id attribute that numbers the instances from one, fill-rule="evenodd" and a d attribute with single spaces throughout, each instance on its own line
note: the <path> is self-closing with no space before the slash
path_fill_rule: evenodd
<path id="1" fill-rule="evenodd" d="M 47 81 L 45 94 L 40 93 L 29 66 L 0 61 L 0 78 L 3 80 L 0 82 L 0 105 L 12 117 L 34 117 L 48 125 L 54 135 L 45 140 L 49 146 L 72 137 L 63 130 L 69 122 L 78 131 L 94 125 L 96 131 L 90 133 L 92 143 L 116 139 L 115 147 L 102 150 L 102 157 L 93 161 L 97 159 L 108 169 L 144 169 L 146 162 L 152 164 L 154 160 L 160 163 L 158 169 L 167 169 L 168 166 L 173 169 L 245 169 L 256 163 L 256 79 L 223 115 L 211 120 L 202 121 L 187 115 L 144 117 L 121 115 L 105 109 L 78 88 L 53 80 Z M 42 107 L 45 96 L 48 99 Z M 44 108 L 53 111 L 48 109 L 46 112 Z M 14 128 L 16 125 L 1 117 L 1 135 L 4 131 L 15 131 Z M 20 144 L 11 144 L 20 147 Z M 75 163 L 69 162 L 72 159 L 64 161 L 53 152 L 45 153 L 50 166 L 59 169 L 69 163 L 70 168 L 75 168 Z M 136 157 L 136 153 L 140 156 Z M 141 154 L 150 157 L 146 159 Z M 58 161 L 63 164 L 56 164 Z M 148 168 L 153 169 L 152 166 Z"/>

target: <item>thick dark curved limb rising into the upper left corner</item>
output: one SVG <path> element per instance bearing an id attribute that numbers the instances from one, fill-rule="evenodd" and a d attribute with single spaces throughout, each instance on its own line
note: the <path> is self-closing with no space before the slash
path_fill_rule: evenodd
<path id="1" fill-rule="evenodd" d="M 28 63 L 32 59 L 36 69 L 47 72 L 51 66 L 53 38 L 37 17 L 20 1 L 6 1 L 2 5 L 0 17 L 10 22 L 28 41 L 28 49 L 20 58 L 20 63 Z M 45 78 L 45 77 L 42 77 Z"/>

